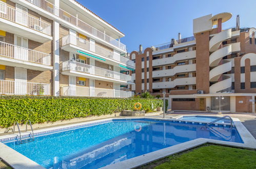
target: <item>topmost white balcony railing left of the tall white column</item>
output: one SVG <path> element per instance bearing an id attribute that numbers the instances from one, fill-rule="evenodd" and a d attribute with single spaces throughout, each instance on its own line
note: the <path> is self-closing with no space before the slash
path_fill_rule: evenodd
<path id="1" fill-rule="evenodd" d="M 51 24 L 0 4 L 0 17 L 51 36 Z"/>

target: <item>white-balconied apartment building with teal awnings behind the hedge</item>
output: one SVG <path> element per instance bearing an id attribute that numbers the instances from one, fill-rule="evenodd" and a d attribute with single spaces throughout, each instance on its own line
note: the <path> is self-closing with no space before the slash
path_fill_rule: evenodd
<path id="1" fill-rule="evenodd" d="M 1 0 L 0 94 L 131 97 L 122 37 L 74 0 Z"/>

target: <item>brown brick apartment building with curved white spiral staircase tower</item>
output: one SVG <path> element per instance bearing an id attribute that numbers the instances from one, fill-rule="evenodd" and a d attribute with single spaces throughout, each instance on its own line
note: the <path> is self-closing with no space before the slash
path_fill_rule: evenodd
<path id="1" fill-rule="evenodd" d="M 135 61 L 135 93 L 163 97 L 169 109 L 254 112 L 256 96 L 255 28 L 222 28 L 231 13 L 193 19 L 193 36 L 130 53 Z"/>

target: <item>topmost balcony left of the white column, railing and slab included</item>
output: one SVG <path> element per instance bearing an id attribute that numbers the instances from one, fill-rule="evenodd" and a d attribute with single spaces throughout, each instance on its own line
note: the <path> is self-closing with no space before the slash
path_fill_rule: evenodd
<path id="1" fill-rule="evenodd" d="M 0 7 L 0 30 L 19 34 L 41 43 L 52 40 L 51 24 L 3 4 L 0 4 Z"/>

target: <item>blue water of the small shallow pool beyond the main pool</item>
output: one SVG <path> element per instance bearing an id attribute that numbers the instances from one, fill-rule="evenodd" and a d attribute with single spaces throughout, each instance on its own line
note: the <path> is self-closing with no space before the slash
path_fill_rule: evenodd
<path id="1" fill-rule="evenodd" d="M 195 121 L 195 122 L 212 122 L 220 117 L 217 116 L 200 116 L 200 115 L 195 115 L 195 116 L 182 116 L 179 118 L 180 120 L 188 120 L 188 121 Z M 230 123 L 229 118 L 225 118 L 222 120 L 219 120 L 217 123 Z"/>

